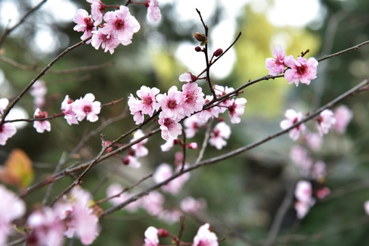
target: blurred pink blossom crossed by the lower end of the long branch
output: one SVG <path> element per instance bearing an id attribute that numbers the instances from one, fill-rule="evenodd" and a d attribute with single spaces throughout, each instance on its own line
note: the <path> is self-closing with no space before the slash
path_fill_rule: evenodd
<path id="1" fill-rule="evenodd" d="M 109 199 L 109 202 L 111 202 L 111 204 L 113 205 L 118 205 L 123 202 L 126 202 L 126 200 L 128 200 L 132 196 L 126 192 L 122 193 L 122 191 L 123 191 L 123 188 L 120 184 L 118 183 L 110 184 L 109 187 L 107 187 L 107 192 L 106 192 L 107 197 L 112 197 L 118 194 L 120 195 L 118 197 L 113 197 Z M 141 200 L 136 200 L 135 202 L 131 202 L 130 204 L 127 204 L 126 206 L 124 206 L 124 209 L 128 210 L 131 213 L 136 212 L 141 204 L 140 201 Z"/>

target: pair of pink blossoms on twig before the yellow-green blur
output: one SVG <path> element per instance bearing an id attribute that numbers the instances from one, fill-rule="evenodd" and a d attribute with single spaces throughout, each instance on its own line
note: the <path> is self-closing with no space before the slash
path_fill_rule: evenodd
<path id="1" fill-rule="evenodd" d="M 316 78 L 318 61 L 314 57 L 308 60 L 302 56 L 295 59 L 292 55 L 286 56 L 281 46 L 275 46 L 272 55 L 274 58 L 267 58 L 265 61 L 269 75 L 275 76 L 284 72 L 284 78 L 288 83 L 295 83 L 296 86 L 299 82 L 310 85 L 310 81 Z"/>

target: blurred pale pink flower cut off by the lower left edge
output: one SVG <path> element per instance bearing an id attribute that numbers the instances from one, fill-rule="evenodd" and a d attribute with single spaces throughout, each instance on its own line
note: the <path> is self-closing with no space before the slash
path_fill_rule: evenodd
<path id="1" fill-rule="evenodd" d="M 0 245 L 5 245 L 12 232 L 12 221 L 26 212 L 25 202 L 0 184 Z"/>

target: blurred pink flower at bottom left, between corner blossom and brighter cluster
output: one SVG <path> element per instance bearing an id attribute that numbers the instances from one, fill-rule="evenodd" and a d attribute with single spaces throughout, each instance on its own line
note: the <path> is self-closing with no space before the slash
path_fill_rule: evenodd
<path id="1" fill-rule="evenodd" d="M 32 229 L 28 236 L 31 245 L 58 246 L 64 243 L 64 221 L 52 208 L 46 207 L 33 211 L 27 219 L 27 226 Z"/>

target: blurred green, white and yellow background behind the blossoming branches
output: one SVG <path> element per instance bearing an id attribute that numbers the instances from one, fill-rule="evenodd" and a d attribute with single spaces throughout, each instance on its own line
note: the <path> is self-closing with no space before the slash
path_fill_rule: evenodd
<path id="1" fill-rule="evenodd" d="M 0 23 L 12 26 L 36 0 L 1 0 Z M 120 1 L 104 1 L 120 4 Z M 306 57 L 323 57 L 369 39 L 369 2 L 366 0 L 249 0 L 249 1 L 159 1 L 161 21 L 148 23 L 146 8 L 130 5 L 131 13 L 141 23 L 133 43 L 119 46 L 113 55 L 84 45 L 57 61 L 43 79 L 48 93 L 43 110 L 49 115 L 60 112 L 61 101 L 68 94 L 79 98 L 91 92 L 102 103 L 129 94 L 146 85 L 165 92 L 172 85 L 181 86 L 178 76 L 185 71 L 197 74 L 205 68 L 204 57 L 194 51 L 197 46 L 192 33 L 204 31 L 195 8 L 210 29 L 210 49 L 226 49 L 239 31 L 241 38 L 212 68 L 213 83 L 238 87 L 249 79 L 267 74 L 265 59 L 271 57 L 276 44 L 295 57 L 310 49 Z M 90 11 L 85 1 L 49 0 L 40 10 L 15 29 L 1 47 L 0 98 L 14 98 L 36 76 L 38 71 L 67 46 L 79 42 L 81 33 L 73 31 L 72 18 L 78 8 Z M 20 69 L 3 59 L 7 57 L 29 66 Z M 204 158 L 226 153 L 279 131 L 279 122 L 288 108 L 304 113 L 325 105 L 336 96 L 369 76 L 369 47 L 322 61 L 318 77 L 310 86 L 288 85 L 284 78 L 262 81 L 244 90 L 247 98 L 245 115 L 240 124 L 232 125 L 228 145 L 222 150 L 208 147 Z M 87 72 L 52 74 L 52 71 L 110 63 L 111 66 Z M 205 85 L 205 84 L 204 84 Z M 208 89 L 204 86 L 204 92 Z M 323 147 L 312 152 L 314 160 L 327 163 L 324 185 L 331 196 L 317 202 L 310 213 L 299 220 L 291 204 L 284 217 L 277 245 L 366 245 L 369 243 L 368 215 L 364 202 L 369 200 L 369 102 L 366 92 L 344 101 L 354 113 L 345 135 L 329 133 Z M 51 174 L 63 154 L 68 154 L 79 141 L 107 118 L 126 110 L 126 100 L 105 107 L 97 123 L 81 122 L 69 126 L 63 118 L 51 122 L 50 133 L 36 133 L 32 124 L 21 124 L 18 133 L 0 147 L 0 164 L 5 163 L 14 148 L 24 150 L 33 161 L 34 182 Z M 31 117 L 33 98 L 27 94 L 12 110 L 13 117 Z M 229 121 L 225 116 L 226 121 Z M 130 115 L 101 131 L 105 139 L 115 139 L 135 126 Z M 308 124 L 314 129 L 314 122 Z M 156 128 L 150 124 L 144 131 Z M 202 142 L 204 131 L 194 141 Z M 126 139 L 125 141 L 128 141 Z M 83 187 L 94 192 L 95 200 L 105 197 L 109 184 L 118 182 L 129 186 L 142 176 L 153 172 L 163 162 L 174 163 L 174 152 L 161 152 L 164 141 L 156 135 L 146 146 L 150 154 L 142 159 L 141 169 L 130 169 L 119 159 L 109 159 L 97 165 L 84 178 Z M 273 139 L 263 146 L 197 169 L 184 184 L 179 195 L 165 194 L 165 207 L 178 208 L 188 195 L 203 197 L 208 207 L 200 215 L 187 215 L 183 239 L 192 241 L 197 228 L 210 223 L 220 245 L 263 245 L 271 222 L 292 180 L 299 180 L 297 167 L 289 157 L 295 143 L 287 135 Z M 90 160 L 100 149 L 96 135 L 64 166 Z M 126 153 L 122 153 L 124 156 Z M 193 163 L 198 150 L 189 152 Z M 67 177 L 56 182 L 51 197 L 63 191 L 71 182 Z M 137 191 L 153 184 L 147 180 Z M 16 190 L 16 187 L 13 187 Z M 40 202 L 46 188 L 26 197 L 29 210 Z M 51 199 L 51 198 L 50 198 Z M 102 208 L 109 208 L 105 203 Z M 166 223 L 150 217 L 144 210 L 128 213 L 120 210 L 100 221 L 102 232 L 94 245 L 142 245 L 143 232 L 148 226 L 167 228 L 177 234 L 180 223 Z M 165 241 L 163 241 L 165 243 Z M 169 244 L 169 242 L 167 242 Z M 75 241 L 74 245 L 79 245 Z"/>

